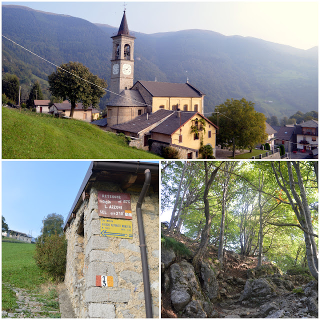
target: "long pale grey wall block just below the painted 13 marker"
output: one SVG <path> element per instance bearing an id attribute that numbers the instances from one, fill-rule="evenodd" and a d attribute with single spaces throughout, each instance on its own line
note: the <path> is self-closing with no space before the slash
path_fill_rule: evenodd
<path id="1" fill-rule="evenodd" d="M 129 299 L 129 289 L 95 286 L 85 291 L 84 302 L 128 302 Z"/>

